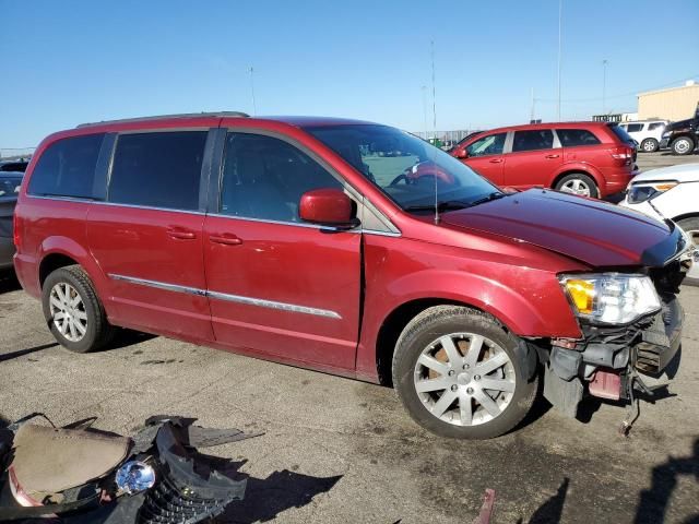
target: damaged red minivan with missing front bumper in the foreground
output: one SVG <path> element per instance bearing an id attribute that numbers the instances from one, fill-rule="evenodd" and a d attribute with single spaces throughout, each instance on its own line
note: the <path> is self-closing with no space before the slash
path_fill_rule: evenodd
<path id="1" fill-rule="evenodd" d="M 584 233 L 583 233 L 584 231 Z M 503 193 L 396 129 L 201 114 L 39 145 L 14 264 L 64 347 L 115 326 L 392 384 L 447 437 L 544 395 L 632 400 L 680 343 L 691 245 L 571 194 Z"/>

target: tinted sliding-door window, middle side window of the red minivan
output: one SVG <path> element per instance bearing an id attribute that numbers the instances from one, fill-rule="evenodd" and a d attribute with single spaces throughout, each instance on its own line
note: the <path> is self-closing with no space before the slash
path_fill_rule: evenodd
<path id="1" fill-rule="evenodd" d="M 109 177 L 109 202 L 198 210 L 206 134 L 174 131 L 120 135 Z"/>

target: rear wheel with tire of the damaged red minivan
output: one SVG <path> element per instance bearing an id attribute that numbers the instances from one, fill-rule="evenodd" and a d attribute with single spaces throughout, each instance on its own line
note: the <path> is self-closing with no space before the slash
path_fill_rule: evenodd
<path id="1" fill-rule="evenodd" d="M 94 352 L 114 335 L 95 288 L 80 265 L 60 267 L 46 277 L 42 306 L 56 341 L 71 352 Z"/>

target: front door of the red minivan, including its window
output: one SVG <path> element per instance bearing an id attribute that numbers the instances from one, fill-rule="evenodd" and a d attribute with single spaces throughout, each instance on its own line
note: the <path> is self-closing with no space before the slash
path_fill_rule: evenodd
<path id="1" fill-rule="evenodd" d="M 295 145 L 226 135 L 221 194 L 204 225 L 216 342 L 279 360 L 354 369 L 360 242 L 306 224 L 304 192 L 342 183 Z"/>

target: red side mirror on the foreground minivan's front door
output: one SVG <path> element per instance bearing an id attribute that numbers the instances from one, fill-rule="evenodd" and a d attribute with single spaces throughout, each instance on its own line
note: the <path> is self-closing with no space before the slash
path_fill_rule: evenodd
<path id="1" fill-rule="evenodd" d="M 351 229 L 359 225 L 354 218 L 352 200 L 340 189 L 313 189 L 301 194 L 298 214 L 304 222 Z"/>

